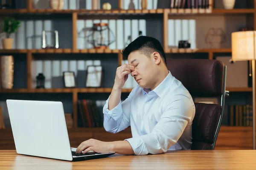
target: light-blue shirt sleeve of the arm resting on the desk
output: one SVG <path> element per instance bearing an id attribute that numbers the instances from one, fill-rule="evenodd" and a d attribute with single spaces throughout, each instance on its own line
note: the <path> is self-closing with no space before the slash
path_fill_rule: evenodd
<path id="1" fill-rule="evenodd" d="M 192 99 L 177 95 L 163 108 L 163 114 L 151 133 L 125 140 L 131 144 L 135 155 L 165 153 L 178 141 L 194 115 Z"/>

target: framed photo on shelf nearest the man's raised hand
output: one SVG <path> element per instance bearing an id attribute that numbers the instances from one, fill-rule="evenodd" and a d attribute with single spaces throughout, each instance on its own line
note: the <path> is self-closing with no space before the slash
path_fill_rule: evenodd
<path id="1" fill-rule="evenodd" d="M 103 68 L 101 65 L 89 65 L 87 67 L 86 87 L 99 88 L 102 87 L 102 73 Z"/>

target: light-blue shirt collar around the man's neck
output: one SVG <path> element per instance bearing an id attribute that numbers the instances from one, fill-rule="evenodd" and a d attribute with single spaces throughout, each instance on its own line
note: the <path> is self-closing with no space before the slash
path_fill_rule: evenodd
<path id="1" fill-rule="evenodd" d="M 165 95 L 165 89 L 171 84 L 173 78 L 171 72 L 168 72 L 169 74 L 166 76 L 166 78 L 163 79 L 163 81 L 156 88 L 154 88 L 153 91 L 151 91 L 151 89 L 142 88 L 143 95 L 149 92 L 154 92 L 155 94 L 157 94 L 157 96 L 163 97 Z"/>

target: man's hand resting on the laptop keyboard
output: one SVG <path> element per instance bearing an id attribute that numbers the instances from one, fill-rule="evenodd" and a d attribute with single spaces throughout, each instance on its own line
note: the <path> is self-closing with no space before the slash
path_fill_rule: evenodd
<path id="1" fill-rule="evenodd" d="M 89 151 L 94 151 L 96 153 L 108 153 L 111 151 L 110 142 L 102 142 L 96 139 L 89 139 L 82 142 L 76 149 L 76 153 L 87 153 Z"/>

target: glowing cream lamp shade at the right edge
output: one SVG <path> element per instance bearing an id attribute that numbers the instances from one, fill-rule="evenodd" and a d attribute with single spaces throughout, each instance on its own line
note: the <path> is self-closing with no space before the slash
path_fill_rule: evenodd
<path id="1" fill-rule="evenodd" d="M 233 61 L 256 59 L 256 31 L 233 32 L 231 38 Z"/>

